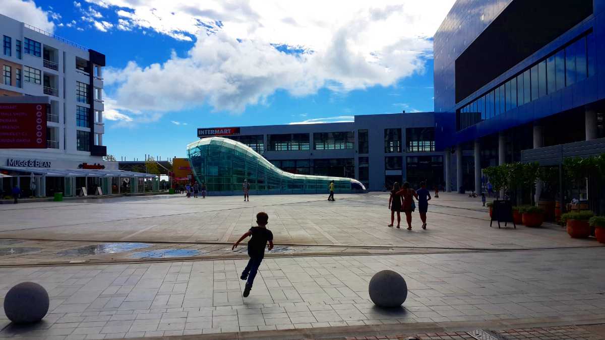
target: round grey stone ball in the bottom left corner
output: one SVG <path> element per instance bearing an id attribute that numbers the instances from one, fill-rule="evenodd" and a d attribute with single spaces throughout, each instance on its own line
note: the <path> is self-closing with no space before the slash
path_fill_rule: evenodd
<path id="1" fill-rule="evenodd" d="M 22 282 L 8 290 L 4 298 L 4 313 L 16 324 L 42 320 L 48 312 L 48 293 L 33 282 Z"/>

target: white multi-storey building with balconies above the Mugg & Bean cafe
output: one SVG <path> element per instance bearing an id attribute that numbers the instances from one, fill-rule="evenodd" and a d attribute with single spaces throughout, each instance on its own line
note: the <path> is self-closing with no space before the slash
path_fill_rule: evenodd
<path id="1" fill-rule="evenodd" d="M 11 171 L 16 177 L 2 180 L 0 191 L 10 189 L 23 174 L 12 169 L 14 166 L 6 168 L 10 160 L 37 160 L 37 164 L 53 169 L 87 165 L 117 169 L 117 163 L 102 160 L 106 155 L 102 98 L 105 55 L 4 15 L 0 15 L 0 37 L 0 98 L 18 98 L 19 102 L 29 96 L 45 96 L 48 103 L 47 148 L 9 149 L 0 145 L 0 170 L 4 167 L 4 172 Z M 48 178 L 44 188 L 39 186 L 38 192 L 30 194 L 74 193 L 73 189 L 67 191 L 66 185 L 65 178 Z M 78 188 L 83 185 L 74 183 Z"/>

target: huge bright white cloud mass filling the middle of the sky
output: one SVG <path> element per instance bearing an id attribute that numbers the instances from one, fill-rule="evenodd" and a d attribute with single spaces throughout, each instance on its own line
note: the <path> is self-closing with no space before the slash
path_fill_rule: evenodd
<path id="1" fill-rule="evenodd" d="M 209 104 L 240 113 L 278 89 L 292 96 L 324 87 L 346 93 L 424 72 L 430 38 L 453 0 L 102 3 L 116 10 L 120 30 L 195 40 L 184 57 L 106 70 L 105 83 L 116 86 L 113 96 L 123 106 L 165 113 Z"/>

